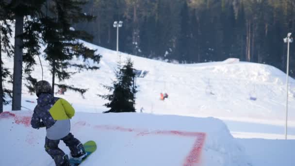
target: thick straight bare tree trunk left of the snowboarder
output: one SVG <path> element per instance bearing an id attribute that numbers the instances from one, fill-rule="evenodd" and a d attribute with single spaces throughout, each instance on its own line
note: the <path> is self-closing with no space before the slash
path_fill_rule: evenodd
<path id="1" fill-rule="evenodd" d="M 21 79 L 22 79 L 22 47 L 23 41 L 19 36 L 23 33 L 24 16 L 16 16 L 16 30 L 15 30 L 15 56 L 14 56 L 14 70 L 13 70 L 13 96 L 12 96 L 12 110 L 20 110 L 21 108 Z"/>

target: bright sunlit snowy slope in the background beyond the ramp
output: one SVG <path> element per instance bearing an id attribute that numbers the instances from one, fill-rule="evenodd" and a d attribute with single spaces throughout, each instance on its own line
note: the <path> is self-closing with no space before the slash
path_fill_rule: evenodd
<path id="1" fill-rule="evenodd" d="M 106 101 L 99 99 L 97 94 L 108 93 L 102 84 L 112 83 L 119 58 L 113 50 L 86 45 L 103 55 L 101 68 L 75 74 L 66 81 L 88 88 L 85 100 L 73 92 L 67 92 L 65 98 L 76 107 L 84 107 L 87 103 L 87 112 L 101 112 L 101 105 Z M 131 57 L 136 69 L 148 71 L 145 78 L 137 79 L 137 110 L 143 107 L 148 113 L 214 116 L 225 120 L 284 125 L 285 74 L 273 66 L 245 62 L 177 65 L 124 53 L 121 57 L 122 61 Z M 10 68 L 13 66 L 12 60 L 4 59 L 4 63 Z M 45 66 L 45 80 L 51 80 L 46 62 L 42 64 Z M 75 68 L 69 70 L 76 71 Z M 33 75 L 41 79 L 41 66 L 35 67 Z M 290 80 L 289 110 L 294 110 L 295 81 Z M 23 89 L 25 93 L 26 88 Z M 168 93 L 168 100 L 159 100 L 161 92 Z M 249 100 L 250 97 L 257 100 Z M 293 111 L 289 113 L 289 124 L 295 126 Z"/>

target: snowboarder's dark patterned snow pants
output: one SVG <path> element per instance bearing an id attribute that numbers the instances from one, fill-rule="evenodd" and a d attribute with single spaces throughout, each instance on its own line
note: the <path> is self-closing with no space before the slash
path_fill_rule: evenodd
<path id="1" fill-rule="evenodd" d="M 71 150 L 72 156 L 77 156 L 81 149 L 78 149 L 78 145 L 81 143 L 78 139 L 74 137 L 72 133 L 67 134 L 63 140 L 66 146 Z M 66 163 L 65 152 L 58 148 L 58 140 L 51 140 L 47 137 L 45 138 L 45 150 L 52 157 L 56 166 L 63 166 Z"/>

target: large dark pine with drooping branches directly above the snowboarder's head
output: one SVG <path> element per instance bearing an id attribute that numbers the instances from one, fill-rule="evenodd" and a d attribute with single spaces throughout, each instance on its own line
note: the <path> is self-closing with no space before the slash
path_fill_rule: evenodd
<path id="1" fill-rule="evenodd" d="M 84 31 L 73 29 L 73 25 L 80 21 L 91 21 L 94 17 L 82 13 L 83 0 L 54 0 L 49 8 L 49 14 L 40 18 L 42 25 L 42 39 L 47 45 L 44 52 L 45 59 L 49 61 L 52 73 L 52 90 L 54 92 L 55 76 L 60 81 L 69 79 L 74 73 L 68 72 L 70 66 L 81 69 L 98 69 L 101 55 L 84 46 L 79 39 L 92 40 L 92 36 Z M 82 57 L 85 63 L 91 59 L 94 65 L 88 63 L 74 64 L 69 61 L 74 57 Z M 74 87 L 73 87 L 74 88 Z"/>

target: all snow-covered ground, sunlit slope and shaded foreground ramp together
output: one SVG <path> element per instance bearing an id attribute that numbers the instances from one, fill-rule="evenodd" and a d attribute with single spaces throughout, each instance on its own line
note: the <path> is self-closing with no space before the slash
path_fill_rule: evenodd
<path id="1" fill-rule="evenodd" d="M 137 70 L 148 71 L 146 77 L 136 79 L 136 109 L 140 112 L 143 108 L 143 114 L 101 114 L 107 110 L 102 106 L 107 101 L 97 95 L 108 93 L 102 85 L 111 85 L 115 79 L 119 57 L 113 50 L 85 44 L 103 56 L 100 69 L 82 71 L 65 82 L 89 89 L 85 99 L 72 91 L 56 95 L 71 102 L 78 112 L 72 120 L 73 134 L 82 141 L 98 143 L 97 153 L 85 165 L 295 166 L 295 140 L 282 140 L 286 75 L 279 69 L 236 59 L 169 64 L 121 53 L 122 61 L 130 57 Z M 12 59 L 3 60 L 13 68 Z M 44 79 L 50 81 L 49 66 L 45 61 L 42 64 Z M 40 65 L 35 66 L 33 76 L 41 79 Z M 295 139 L 295 80 L 289 80 L 288 139 Z M 169 96 L 163 101 L 160 93 Z M 36 97 L 23 86 L 22 98 L 26 111 L 12 112 L 15 116 L 5 113 L 0 118 L 4 133 L 0 166 L 50 165 L 43 148 L 45 131 L 33 130 L 26 126 L 27 121 L 17 120 L 29 119 L 36 103 L 25 100 L 35 102 Z M 4 110 L 10 111 L 11 106 Z M 61 146 L 67 150 L 63 143 Z M 21 157 L 13 160 L 12 153 Z"/>

